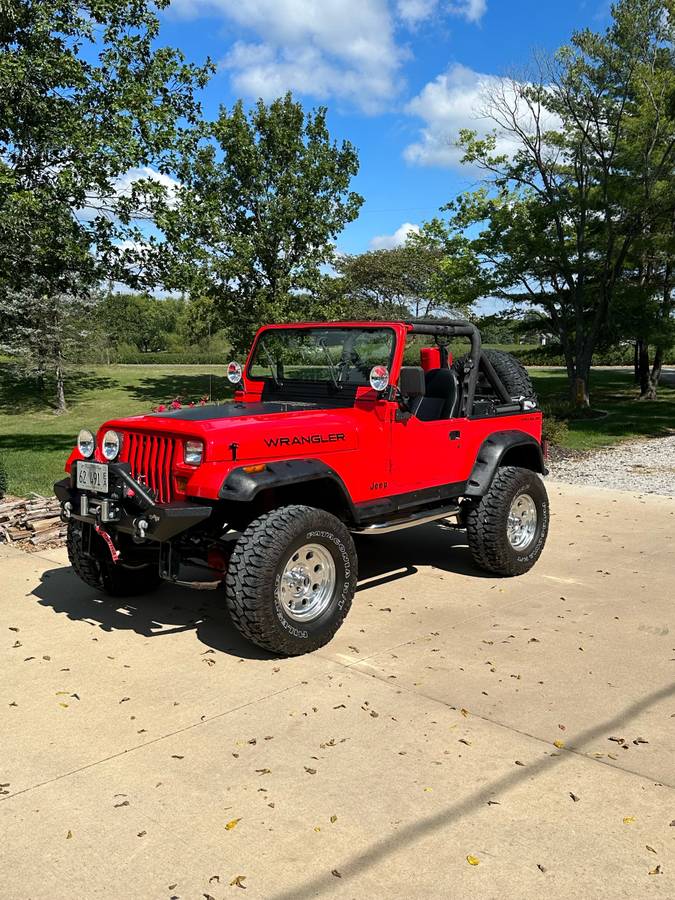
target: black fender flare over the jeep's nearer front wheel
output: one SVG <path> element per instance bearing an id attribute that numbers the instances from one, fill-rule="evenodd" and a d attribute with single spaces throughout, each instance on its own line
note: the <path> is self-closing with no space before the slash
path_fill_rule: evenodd
<path id="1" fill-rule="evenodd" d="M 354 511 L 354 504 L 344 481 L 320 459 L 278 460 L 266 463 L 260 472 L 246 472 L 247 468 L 249 466 L 239 466 L 229 473 L 218 494 L 221 500 L 249 503 L 261 491 L 328 479 L 337 486 L 348 509 L 352 513 Z"/>

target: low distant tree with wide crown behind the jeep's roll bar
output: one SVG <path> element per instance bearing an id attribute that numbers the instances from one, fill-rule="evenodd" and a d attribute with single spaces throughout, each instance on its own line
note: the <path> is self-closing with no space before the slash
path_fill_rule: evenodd
<path id="1" fill-rule="evenodd" d="M 458 237 L 459 242 L 467 243 Z M 464 268 L 463 268 L 464 266 Z M 429 231 L 402 247 L 338 256 L 335 285 L 350 316 L 427 317 L 468 312 L 478 296 L 473 257 L 453 253 Z"/>

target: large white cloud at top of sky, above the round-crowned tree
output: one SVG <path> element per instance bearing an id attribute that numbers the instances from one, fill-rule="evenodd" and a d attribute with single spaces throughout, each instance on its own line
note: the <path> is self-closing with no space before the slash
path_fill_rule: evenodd
<path id="1" fill-rule="evenodd" d="M 174 0 L 171 10 L 219 15 L 250 32 L 222 63 L 248 97 L 292 90 L 375 112 L 400 88 L 406 51 L 388 0 Z"/>

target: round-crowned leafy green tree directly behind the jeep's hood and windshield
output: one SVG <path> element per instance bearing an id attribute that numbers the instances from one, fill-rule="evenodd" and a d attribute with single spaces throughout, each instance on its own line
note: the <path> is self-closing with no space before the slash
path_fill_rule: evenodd
<path id="1" fill-rule="evenodd" d="M 290 94 L 247 113 L 221 108 L 178 168 L 173 203 L 155 207 L 170 288 L 212 298 L 239 351 L 264 321 L 317 311 L 322 265 L 356 218 L 353 146 L 331 140 L 326 110 Z"/>

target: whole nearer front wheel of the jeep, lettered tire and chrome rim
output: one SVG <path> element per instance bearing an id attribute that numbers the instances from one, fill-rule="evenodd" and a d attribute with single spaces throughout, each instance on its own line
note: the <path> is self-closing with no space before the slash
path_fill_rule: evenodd
<path id="1" fill-rule="evenodd" d="M 244 637 L 297 656 L 333 637 L 356 579 L 356 550 L 342 522 L 321 509 L 284 506 L 255 519 L 237 541 L 225 599 Z"/>

